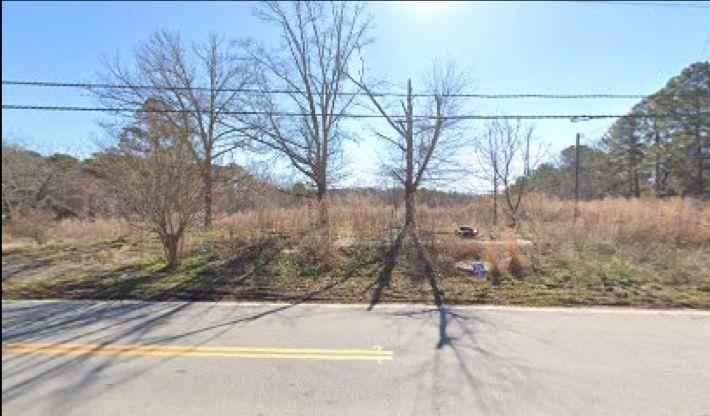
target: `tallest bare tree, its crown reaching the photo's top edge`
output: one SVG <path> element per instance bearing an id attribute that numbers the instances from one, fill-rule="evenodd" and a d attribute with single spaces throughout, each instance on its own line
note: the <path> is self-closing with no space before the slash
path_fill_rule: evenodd
<path id="1" fill-rule="evenodd" d="M 328 188 L 346 134 L 342 115 L 355 95 L 346 91 L 353 57 L 369 42 L 370 19 L 362 3 L 265 2 L 258 15 L 278 27 L 283 45 L 270 53 L 247 45 L 264 89 L 254 108 L 266 115 L 250 118 L 252 139 L 284 156 L 315 190 L 318 225 L 328 225 Z M 301 117 L 284 116 L 296 112 Z"/>

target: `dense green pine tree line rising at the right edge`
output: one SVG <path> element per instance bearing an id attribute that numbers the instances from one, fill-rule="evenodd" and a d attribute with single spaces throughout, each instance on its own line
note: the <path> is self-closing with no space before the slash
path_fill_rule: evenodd
<path id="1" fill-rule="evenodd" d="M 597 143 L 579 150 L 582 198 L 645 194 L 707 199 L 710 63 L 688 66 L 634 105 L 630 115 L 617 120 Z M 532 172 L 529 189 L 571 198 L 575 163 L 575 149 L 570 146 L 556 161 Z"/>

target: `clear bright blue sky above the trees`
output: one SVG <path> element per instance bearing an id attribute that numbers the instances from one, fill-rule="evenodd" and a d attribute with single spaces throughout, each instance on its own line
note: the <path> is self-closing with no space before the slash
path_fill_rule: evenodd
<path id="1" fill-rule="evenodd" d="M 650 94 L 693 62 L 710 58 L 710 2 L 377 2 L 368 3 L 375 42 L 368 73 L 404 86 L 433 59 L 452 60 L 474 93 Z M 278 44 L 249 2 L 2 2 L 2 79 L 91 82 L 102 59 L 130 59 L 156 29 L 203 41 L 210 32 Z M 394 87 L 393 87 L 394 88 Z M 623 114 L 635 100 L 468 100 L 474 114 Z M 2 87 L 3 104 L 96 105 L 77 89 Z M 2 111 L 2 137 L 41 153 L 88 156 L 102 130 L 96 113 Z M 612 121 L 536 121 L 552 157 L 592 144 Z M 472 137 L 482 129 L 471 123 Z M 344 184 L 376 183 L 377 126 L 359 128 L 345 148 Z M 478 186 L 478 185 L 476 185 Z"/>

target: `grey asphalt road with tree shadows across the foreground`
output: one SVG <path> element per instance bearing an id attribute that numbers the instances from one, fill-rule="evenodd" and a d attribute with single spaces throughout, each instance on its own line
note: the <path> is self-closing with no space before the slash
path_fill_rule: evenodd
<path id="1" fill-rule="evenodd" d="M 4 415 L 710 415 L 710 312 L 2 303 Z"/>

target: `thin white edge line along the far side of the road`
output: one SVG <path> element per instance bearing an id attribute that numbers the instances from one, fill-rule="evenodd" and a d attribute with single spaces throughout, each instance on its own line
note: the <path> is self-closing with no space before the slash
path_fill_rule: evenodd
<path id="1" fill-rule="evenodd" d="M 144 300 L 90 300 L 90 299 L 3 299 L 2 304 L 11 303 L 91 303 L 91 304 L 194 304 L 194 305 L 209 305 L 218 307 L 321 307 L 332 309 L 367 309 L 370 305 L 367 303 L 288 303 L 288 302 L 240 302 L 240 301 L 190 301 L 190 302 L 151 302 Z M 380 303 L 373 308 L 373 311 L 386 309 L 436 309 L 436 305 L 423 303 Z M 567 314 L 649 314 L 649 315 L 694 315 L 694 316 L 709 316 L 710 310 L 703 309 L 644 309 L 633 307 L 616 307 L 616 306 L 581 306 L 581 307 L 539 307 L 539 306 L 508 306 L 508 305 L 459 305 L 453 304 L 447 306 L 450 310 L 481 310 L 481 311 L 500 311 L 500 312 L 556 312 Z"/>

